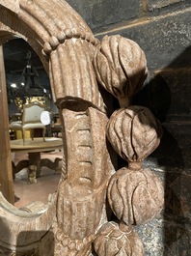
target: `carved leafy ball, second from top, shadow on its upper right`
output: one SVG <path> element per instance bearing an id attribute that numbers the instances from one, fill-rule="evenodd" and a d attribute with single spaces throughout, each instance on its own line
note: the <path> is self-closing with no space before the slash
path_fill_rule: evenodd
<path id="1" fill-rule="evenodd" d="M 116 110 L 107 125 L 107 137 L 115 151 L 127 161 L 142 161 L 159 145 L 160 123 L 143 106 Z"/>

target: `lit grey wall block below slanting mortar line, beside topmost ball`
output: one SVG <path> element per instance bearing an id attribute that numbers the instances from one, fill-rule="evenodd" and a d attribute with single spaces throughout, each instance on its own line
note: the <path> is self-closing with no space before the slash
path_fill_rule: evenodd
<path id="1" fill-rule="evenodd" d="M 190 62 L 191 11 L 164 15 L 129 27 L 119 26 L 111 34 L 120 34 L 137 42 L 146 53 L 149 71 Z M 110 35 L 110 32 L 108 33 Z M 103 37 L 100 35 L 99 37 Z"/>

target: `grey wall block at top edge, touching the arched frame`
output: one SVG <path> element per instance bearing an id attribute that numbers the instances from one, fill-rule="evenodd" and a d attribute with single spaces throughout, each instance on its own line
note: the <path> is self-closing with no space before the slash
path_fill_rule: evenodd
<path id="1" fill-rule="evenodd" d="M 68 0 L 67 2 L 81 14 L 94 32 L 114 23 L 137 18 L 141 3 L 140 0 L 82 0 L 80 2 Z"/>

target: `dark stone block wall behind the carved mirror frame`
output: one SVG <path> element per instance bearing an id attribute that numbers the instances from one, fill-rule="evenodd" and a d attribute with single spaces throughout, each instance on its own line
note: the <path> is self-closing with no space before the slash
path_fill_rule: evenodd
<path id="1" fill-rule="evenodd" d="M 137 227 L 146 255 L 191 255 L 191 1 L 68 0 L 99 39 L 120 34 L 143 48 L 149 77 L 134 104 L 164 130 L 145 160 L 165 187 L 163 213 Z"/>

